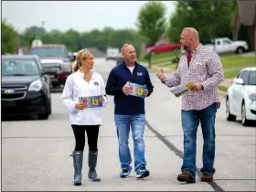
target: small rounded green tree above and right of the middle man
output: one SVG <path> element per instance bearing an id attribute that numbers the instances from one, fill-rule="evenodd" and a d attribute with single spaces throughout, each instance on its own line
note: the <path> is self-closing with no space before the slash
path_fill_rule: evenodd
<path id="1" fill-rule="evenodd" d="M 149 44 L 155 44 L 165 33 L 165 9 L 161 2 L 148 2 L 140 9 L 136 26 Z"/>

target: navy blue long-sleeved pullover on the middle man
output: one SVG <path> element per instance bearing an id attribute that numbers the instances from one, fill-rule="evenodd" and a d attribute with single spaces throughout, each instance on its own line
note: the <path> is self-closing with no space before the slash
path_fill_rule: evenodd
<path id="1" fill-rule="evenodd" d="M 114 114 L 144 114 L 144 99 L 123 93 L 122 88 L 127 81 L 146 85 L 147 96 L 153 92 L 148 70 L 135 62 L 132 74 L 123 61 L 112 69 L 106 83 L 106 93 L 114 96 Z"/>

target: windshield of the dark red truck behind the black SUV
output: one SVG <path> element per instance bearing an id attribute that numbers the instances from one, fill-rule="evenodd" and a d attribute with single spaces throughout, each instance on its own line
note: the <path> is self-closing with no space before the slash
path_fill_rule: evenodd
<path id="1" fill-rule="evenodd" d="M 40 58 L 53 57 L 53 58 L 68 58 L 66 48 L 31 48 L 29 51 L 30 55 L 37 55 Z"/>

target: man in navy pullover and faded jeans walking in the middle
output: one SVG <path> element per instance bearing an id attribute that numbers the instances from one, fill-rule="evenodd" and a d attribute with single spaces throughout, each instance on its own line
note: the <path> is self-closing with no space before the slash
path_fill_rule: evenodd
<path id="1" fill-rule="evenodd" d="M 145 96 L 153 92 L 148 70 L 136 62 L 136 51 L 133 45 L 124 44 L 122 48 L 123 62 L 110 72 L 106 84 L 106 93 L 114 96 L 114 122 L 119 140 L 119 158 L 121 177 L 128 177 L 132 170 L 132 157 L 128 145 L 130 129 L 133 134 L 134 169 L 137 178 L 149 176 L 146 170 L 144 155 L 144 98 L 129 95 L 131 88 L 127 81 L 146 85 Z"/>

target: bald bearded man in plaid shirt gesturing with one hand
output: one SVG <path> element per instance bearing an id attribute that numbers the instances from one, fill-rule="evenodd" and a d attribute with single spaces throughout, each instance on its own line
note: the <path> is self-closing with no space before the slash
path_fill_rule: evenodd
<path id="1" fill-rule="evenodd" d="M 180 58 L 176 72 L 165 77 L 163 69 L 157 77 L 168 87 L 193 82 L 182 97 L 181 121 L 184 132 L 184 157 L 180 182 L 196 182 L 197 127 L 201 123 L 204 138 L 203 176 L 201 181 L 212 181 L 215 173 L 215 119 L 220 106 L 218 87 L 224 80 L 219 55 L 199 42 L 195 28 L 186 27 L 180 36 L 180 43 L 186 50 Z"/>

